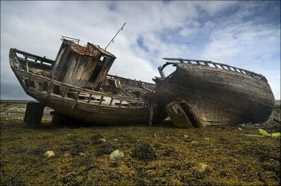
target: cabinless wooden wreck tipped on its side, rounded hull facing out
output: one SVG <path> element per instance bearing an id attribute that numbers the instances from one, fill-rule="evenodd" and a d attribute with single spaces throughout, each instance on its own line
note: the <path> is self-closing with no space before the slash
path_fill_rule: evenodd
<path id="1" fill-rule="evenodd" d="M 218 62 L 164 58 L 161 77 L 150 98 L 177 126 L 260 123 L 269 119 L 275 104 L 271 88 L 261 74 Z M 163 69 L 176 70 L 165 77 Z M 188 120 L 188 121 L 186 121 Z"/>

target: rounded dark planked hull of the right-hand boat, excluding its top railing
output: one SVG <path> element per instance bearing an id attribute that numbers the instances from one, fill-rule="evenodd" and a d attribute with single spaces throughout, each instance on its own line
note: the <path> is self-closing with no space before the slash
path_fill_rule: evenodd
<path id="1" fill-rule="evenodd" d="M 178 63 L 176 71 L 158 82 L 152 95 L 164 105 L 178 98 L 188 102 L 202 125 L 267 121 L 274 96 L 265 79 L 209 65 Z"/>

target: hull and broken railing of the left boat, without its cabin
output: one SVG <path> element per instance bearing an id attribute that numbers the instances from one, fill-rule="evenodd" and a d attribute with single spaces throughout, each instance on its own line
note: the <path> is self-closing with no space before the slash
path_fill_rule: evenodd
<path id="1" fill-rule="evenodd" d="M 9 55 L 10 65 L 25 93 L 41 104 L 51 107 L 55 112 L 91 124 L 122 125 L 152 122 L 151 113 L 155 113 L 153 111 L 155 107 L 150 107 L 151 104 L 144 98 L 91 91 L 56 81 L 44 75 L 50 67 L 19 58 L 16 53 L 24 52 L 12 48 Z M 30 58 L 29 53 L 25 55 Z M 45 60 L 36 55 L 32 55 L 32 58 Z M 34 73 L 39 69 L 44 73 Z"/>

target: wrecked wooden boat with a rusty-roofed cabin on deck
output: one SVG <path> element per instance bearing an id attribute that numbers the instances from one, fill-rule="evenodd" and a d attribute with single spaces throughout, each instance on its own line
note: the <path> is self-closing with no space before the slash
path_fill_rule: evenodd
<path id="1" fill-rule="evenodd" d="M 152 122 L 154 108 L 143 95 L 155 84 L 107 74 L 116 57 L 98 45 L 83 47 L 65 36 L 62 41 L 55 60 L 11 48 L 11 68 L 28 95 L 57 117 L 93 124 Z M 40 115 L 43 109 L 32 112 Z"/>

